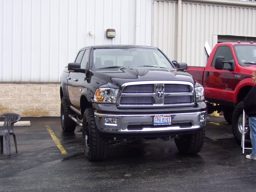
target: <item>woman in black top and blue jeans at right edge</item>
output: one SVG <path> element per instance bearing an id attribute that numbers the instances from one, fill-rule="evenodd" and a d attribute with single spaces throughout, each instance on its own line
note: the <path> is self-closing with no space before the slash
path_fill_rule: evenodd
<path id="1" fill-rule="evenodd" d="M 247 159 L 256 160 L 256 71 L 252 73 L 252 82 L 254 86 L 244 98 L 244 111 L 249 117 L 250 137 L 252 143 L 252 152 L 247 155 Z"/>

